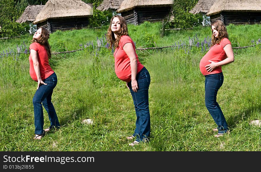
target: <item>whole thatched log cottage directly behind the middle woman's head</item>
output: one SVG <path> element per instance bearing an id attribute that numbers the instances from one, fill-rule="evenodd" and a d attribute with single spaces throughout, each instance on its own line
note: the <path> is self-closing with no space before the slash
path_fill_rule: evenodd
<path id="1" fill-rule="evenodd" d="M 144 21 L 159 22 L 171 11 L 173 0 L 124 0 L 117 13 L 121 13 L 128 24 L 139 25 Z"/>

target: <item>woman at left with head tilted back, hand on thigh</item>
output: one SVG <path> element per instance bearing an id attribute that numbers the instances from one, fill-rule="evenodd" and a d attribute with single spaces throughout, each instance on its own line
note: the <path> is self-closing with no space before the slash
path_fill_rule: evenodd
<path id="1" fill-rule="evenodd" d="M 37 140 L 41 139 L 45 132 L 54 128 L 60 128 L 57 114 L 51 102 L 52 92 L 57 84 L 57 76 L 49 64 L 49 59 L 51 58 L 51 47 L 48 43 L 49 36 L 48 30 L 40 27 L 34 33 L 32 43 L 30 44 L 30 76 L 34 81 L 38 82 L 33 98 L 34 139 Z M 50 120 L 50 127 L 46 129 L 43 129 L 44 114 L 42 105 L 47 111 Z"/>

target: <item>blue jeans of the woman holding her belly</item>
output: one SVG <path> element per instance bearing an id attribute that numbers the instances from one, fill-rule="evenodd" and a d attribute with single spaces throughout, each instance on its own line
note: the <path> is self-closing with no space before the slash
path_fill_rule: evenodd
<path id="1" fill-rule="evenodd" d="M 227 122 L 217 103 L 217 91 L 224 81 L 223 73 L 205 75 L 205 105 L 217 124 L 218 133 L 226 133 Z"/>

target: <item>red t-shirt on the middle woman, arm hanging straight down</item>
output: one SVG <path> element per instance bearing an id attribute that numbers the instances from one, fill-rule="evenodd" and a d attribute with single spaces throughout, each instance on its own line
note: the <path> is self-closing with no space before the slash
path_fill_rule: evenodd
<path id="1" fill-rule="evenodd" d="M 136 58 L 137 58 L 137 73 L 139 73 L 139 71 L 141 71 L 141 69 L 144 66 L 139 62 L 138 55 L 135 50 L 135 44 L 132 41 L 132 39 L 127 35 L 121 36 L 119 41 L 119 47 L 117 47 L 113 53 L 115 74 L 122 81 L 130 82 L 131 81 L 130 58 L 123 50 L 123 46 L 126 43 L 132 43 L 132 46 L 134 48 Z"/>

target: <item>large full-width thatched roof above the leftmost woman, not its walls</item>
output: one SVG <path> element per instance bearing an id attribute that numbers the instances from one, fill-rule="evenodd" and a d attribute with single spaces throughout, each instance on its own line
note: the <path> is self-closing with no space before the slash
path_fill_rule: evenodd
<path id="1" fill-rule="evenodd" d="M 80 0 L 48 0 L 36 16 L 33 24 L 47 19 L 87 17 L 93 15 L 93 8 Z"/>

